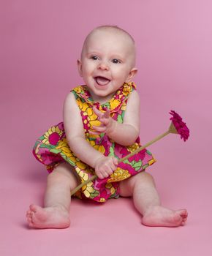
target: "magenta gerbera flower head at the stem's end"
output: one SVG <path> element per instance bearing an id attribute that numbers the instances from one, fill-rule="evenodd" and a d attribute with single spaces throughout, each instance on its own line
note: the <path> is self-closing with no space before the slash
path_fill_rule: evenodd
<path id="1" fill-rule="evenodd" d="M 186 141 L 189 138 L 189 128 L 186 127 L 186 123 L 183 122 L 181 116 L 174 110 L 171 110 L 170 114 L 172 115 L 172 117 L 170 118 L 172 123 L 170 125 L 169 131 L 171 133 L 178 133 L 179 135 L 181 135 L 181 139 Z"/>

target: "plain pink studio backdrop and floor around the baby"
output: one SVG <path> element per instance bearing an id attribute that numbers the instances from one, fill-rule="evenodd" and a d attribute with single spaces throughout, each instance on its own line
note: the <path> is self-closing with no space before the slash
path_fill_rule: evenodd
<path id="1" fill-rule="evenodd" d="M 211 255 L 211 10 L 210 0 L 1 1 L 1 255 Z M 26 226 L 47 176 L 31 148 L 61 121 L 64 97 L 82 83 L 83 39 L 103 24 L 135 37 L 142 142 L 167 129 L 171 109 L 191 129 L 186 143 L 169 135 L 149 148 L 158 162 L 148 172 L 164 205 L 188 208 L 185 227 L 144 227 L 125 198 L 73 200 L 67 230 Z"/>

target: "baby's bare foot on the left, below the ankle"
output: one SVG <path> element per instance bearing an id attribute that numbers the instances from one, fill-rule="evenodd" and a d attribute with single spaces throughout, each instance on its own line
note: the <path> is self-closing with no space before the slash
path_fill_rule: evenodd
<path id="1" fill-rule="evenodd" d="M 69 212 L 60 206 L 42 208 L 31 205 L 26 218 L 30 227 L 66 228 L 70 225 Z"/>

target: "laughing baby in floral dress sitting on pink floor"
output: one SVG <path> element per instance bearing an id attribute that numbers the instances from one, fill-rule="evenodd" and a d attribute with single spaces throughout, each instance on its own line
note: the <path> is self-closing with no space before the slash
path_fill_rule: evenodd
<path id="1" fill-rule="evenodd" d="M 34 155 L 49 171 L 44 207 L 32 204 L 30 227 L 70 225 L 70 191 L 96 173 L 75 196 L 105 202 L 132 197 L 147 226 L 184 225 L 187 211 L 161 205 L 152 176 L 155 162 L 148 150 L 118 163 L 140 146 L 140 99 L 132 78 L 135 42 L 117 26 L 99 26 L 86 37 L 77 67 L 85 85 L 64 101 L 64 121 L 50 127 L 34 146 Z"/>

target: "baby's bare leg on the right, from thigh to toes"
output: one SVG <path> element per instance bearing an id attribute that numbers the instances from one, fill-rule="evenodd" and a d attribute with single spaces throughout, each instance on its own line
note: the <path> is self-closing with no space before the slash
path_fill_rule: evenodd
<path id="1" fill-rule="evenodd" d="M 187 218 L 185 209 L 173 211 L 161 206 L 154 179 L 142 172 L 120 183 L 121 196 L 133 196 L 135 208 L 143 215 L 143 225 L 178 227 Z"/>

